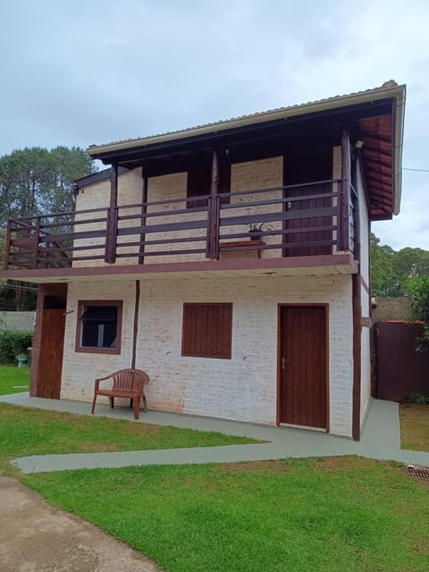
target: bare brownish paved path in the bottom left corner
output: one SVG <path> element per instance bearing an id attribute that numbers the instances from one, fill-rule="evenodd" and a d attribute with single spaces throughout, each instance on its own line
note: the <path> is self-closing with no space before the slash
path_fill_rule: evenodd
<path id="1" fill-rule="evenodd" d="M 0 476 L 2 572 L 159 572 L 146 557 Z"/>

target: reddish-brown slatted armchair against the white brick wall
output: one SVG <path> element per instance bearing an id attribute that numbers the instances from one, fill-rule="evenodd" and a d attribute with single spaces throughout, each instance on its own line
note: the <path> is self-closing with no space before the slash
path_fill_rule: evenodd
<path id="1" fill-rule="evenodd" d="M 108 379 L 113 380 L 113 385 L 110 388 L 100 389 L 100 382 Z M 114 408 L 115 397 L 129 399 L 130 407 L 134 406 L 134 419 L 139 419 L 141 400 L 143 400 L 143 410 L 147 411 L 144 387 L 149 381 L 149 376 L 139 369 L 121 369 L 114 374 L 96 379 L 91 414 L 96 410 L 97 395 L 105 395 L 110 400 L 111 408 Z"/>

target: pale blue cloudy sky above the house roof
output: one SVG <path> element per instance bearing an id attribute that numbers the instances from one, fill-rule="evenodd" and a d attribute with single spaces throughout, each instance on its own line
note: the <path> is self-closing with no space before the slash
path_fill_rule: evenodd
<path id="1" fill-rule="evenodd" d="M 407 84 L 401 213 L 373 231 L 429 249 L 427 0 L 13 0 L 0 22 L 0 156 Z"/>

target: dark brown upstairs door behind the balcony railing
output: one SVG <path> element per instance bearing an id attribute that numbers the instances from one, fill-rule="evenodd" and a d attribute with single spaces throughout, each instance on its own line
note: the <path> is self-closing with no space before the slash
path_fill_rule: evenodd
<path id="1" fill-rule="evenodd" d="M 329 181 L 332 179 L 332 149 L 317 151 L 301 156 L 283 157 L 283 185 L 302 185 L 315 181 Z M 284 198 L 306 197 L 329 193 L 332 191 L 332 183 L 309 185 L 298 189 L 285 189 Z M 284 208 L 290 213 L 302 210 L 315 211 L 317 208 L 332 206 L 332 198 L 309 198 L 285 203 Z M 332 216 L 308 216 L 296 218 L 284 222 L 285 234 L 283 256 L 285 257 L 309 257 L 332 254 L 332 245 L 317 244 L 318 242 L 332 241 L 331 230 L 317 231 L 317 228 L 332 226 Z M 307 231 L 302 231 L 308 229 Z M 287 245 L 300 245 L 287 248 Z"/>

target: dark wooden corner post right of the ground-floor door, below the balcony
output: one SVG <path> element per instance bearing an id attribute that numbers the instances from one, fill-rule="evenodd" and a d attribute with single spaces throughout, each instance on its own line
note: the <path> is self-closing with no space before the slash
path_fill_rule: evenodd
<path id="1" fill-rule="evenodd" d="M 353 408 L 351 434 L 355 441 L 360 440 L 360 383 L 362 355 L 362 304 L 360 301 L 360 274 L 352 274 L 352 308 L 353 308 Z"/>

